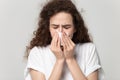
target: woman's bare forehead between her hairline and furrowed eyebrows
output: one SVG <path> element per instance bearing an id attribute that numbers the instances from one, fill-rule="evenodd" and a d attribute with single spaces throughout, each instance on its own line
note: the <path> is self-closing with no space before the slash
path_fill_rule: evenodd
<path id="1" fill-rule="evenodd" d="M 50 24 L 73 24 L 71 14 L 66 12 L 59 12 L 50 18 Z"/>

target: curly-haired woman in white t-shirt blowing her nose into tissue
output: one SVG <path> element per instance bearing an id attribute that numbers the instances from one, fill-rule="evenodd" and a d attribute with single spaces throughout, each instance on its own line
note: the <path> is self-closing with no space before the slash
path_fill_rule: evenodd
<path id="1" fill-rule="evenodd" d="M 50 0 L 39 18 L 27 49 L 25 80 L 100 80 L 95 45 L 72 1 Z"/>

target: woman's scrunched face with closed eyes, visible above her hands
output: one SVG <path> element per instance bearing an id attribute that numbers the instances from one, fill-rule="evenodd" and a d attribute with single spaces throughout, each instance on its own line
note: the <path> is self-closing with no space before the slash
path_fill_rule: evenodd
<path id="1" fill-rule="evenodd" d="M 72 38 L 73 33 L 75 32 L 75 28 L 73 25 L 73 19 L 71 14 L 65 12 L 59 12 L 53 15 L 50 18 L 49 24 L 51 37 L 55 35 L 57 32 L 66 33 L 69 37 Z"/>

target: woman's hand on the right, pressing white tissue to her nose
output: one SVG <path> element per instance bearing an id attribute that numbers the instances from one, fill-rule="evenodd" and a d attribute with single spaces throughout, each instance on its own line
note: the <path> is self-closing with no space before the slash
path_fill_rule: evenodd
<path id="1" fill-rule="evenodd" d="M 65 59 L 66 60 L 73 59 L 75 44 L 70 39 L 70 37 L 68 37 L 65 33 L 63 33 L 62 43 L 63 43 L 63 53 L 65 56 Z"/>

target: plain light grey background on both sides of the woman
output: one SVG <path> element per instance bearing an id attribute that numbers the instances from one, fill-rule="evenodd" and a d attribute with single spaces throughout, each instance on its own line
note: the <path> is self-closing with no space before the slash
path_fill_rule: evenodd
<path id="1" fill-rule="evenodd" d="M 0 80 L 24 80 L 25 46 L 45 0 L 0 0 Z M 74 0 L 98 49 L 105 80 L 120 80 L 120 1 Z"/>

